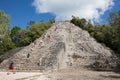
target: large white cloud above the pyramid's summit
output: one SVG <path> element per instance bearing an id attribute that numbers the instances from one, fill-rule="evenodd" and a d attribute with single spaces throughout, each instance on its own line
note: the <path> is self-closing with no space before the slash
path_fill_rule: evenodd
<path id="1" fill-rule="evenodd" d="M 52 13 L 56 20 L 69 20 L 71 16 L 99 20 L 100 15 L 114 5 L 113 0 L 34 0 L 38 13 Z"/>

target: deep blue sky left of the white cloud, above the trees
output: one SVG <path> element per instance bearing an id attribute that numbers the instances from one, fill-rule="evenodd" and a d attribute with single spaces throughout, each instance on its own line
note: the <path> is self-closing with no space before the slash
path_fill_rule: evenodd
<path id="1" fill-rule="evenodd" d="M 54 18 L 51 14 L 38 14 L 32 6 L 33 0 L 0 0 L 0 10 L 9 14 L 13 26 L 25 28 L 30 20 L 40 21 Z"/>

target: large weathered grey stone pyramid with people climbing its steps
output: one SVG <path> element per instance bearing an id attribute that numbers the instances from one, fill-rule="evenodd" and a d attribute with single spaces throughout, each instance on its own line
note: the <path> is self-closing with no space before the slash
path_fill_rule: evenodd
<path id="1" fill-rule="evenodd" d="M 112 51 L 98 43 L 87 31 L 64 21 L 54 23 L 29 46 L 3 60 L 0 69 L 7 69 L 10 61 L 14 62 L 16 70 L 86 68 L 96 61 L 105 65 L 106 59 L 111 56 Z"/>

